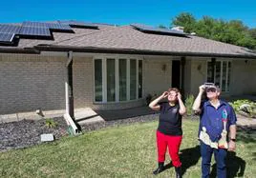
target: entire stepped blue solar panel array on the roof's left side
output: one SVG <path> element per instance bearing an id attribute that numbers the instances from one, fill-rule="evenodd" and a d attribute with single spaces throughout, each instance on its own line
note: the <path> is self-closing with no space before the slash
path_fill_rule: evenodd
<path id="1" fill-rule="evenodd" d="M 21 25 L 0 24 L 0 44 L 13 43 L 15 36 L 28 38 L 53 38 L 51 31 L 74 32 L 72 27 L 97 29 L 91 23 L 78 21 L 57 21 L 50 23 L 25 21 Z"/>

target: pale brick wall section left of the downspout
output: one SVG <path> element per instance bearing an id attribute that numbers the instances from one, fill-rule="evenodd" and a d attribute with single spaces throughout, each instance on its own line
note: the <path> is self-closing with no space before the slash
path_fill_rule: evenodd
<path id="1" fill-rule="evenodd" d="M 0 55 L 0 113 L 65 109 L 66 58 Z"/>

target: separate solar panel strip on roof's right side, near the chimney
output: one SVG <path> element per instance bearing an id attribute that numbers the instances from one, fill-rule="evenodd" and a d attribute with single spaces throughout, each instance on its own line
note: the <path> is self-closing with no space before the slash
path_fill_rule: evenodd
<path id="1" fill-rule="evenodd" d="M 186 36 L 186 33 L 179 31 L 179 30 L 168 30 L 168 29 L 160 29 L 160 28 L 153 28 L 150 26 L 144 26 L 140 24 L 131 24 L 133 28 L 136 30 L 140 30 L 142 32 L 153 32 L 153 33 L 162 33 L 162 34 L 171 34 L 171 35 L 181 35 Z"/>

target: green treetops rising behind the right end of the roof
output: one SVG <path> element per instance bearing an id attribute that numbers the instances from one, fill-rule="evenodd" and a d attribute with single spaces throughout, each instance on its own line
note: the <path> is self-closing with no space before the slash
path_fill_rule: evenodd
<path id="1" fill-rule="evenodd" d="M 185 32 L 196 32 L 204 38 L 256 49 L 256 29 L 249 30 L 240 20 L 224 21 L 209 16 L 196 20 L 191 13 L 182 12 L 172 25 L 182 26 Z"/>

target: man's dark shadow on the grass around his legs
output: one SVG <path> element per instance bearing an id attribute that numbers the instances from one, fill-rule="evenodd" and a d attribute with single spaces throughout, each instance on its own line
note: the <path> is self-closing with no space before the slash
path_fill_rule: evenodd
<path id="1" fill-rule="evenodd" d="M 226 177 L 234 178 L 234 177 L 243 177 L 245 173 L 245 160 L 236 156 L 236 152 L 227 152 L 226 157 Z M 212 166 L 210 178 L 217 177 L 217 165 L 214 164 Z"/>

